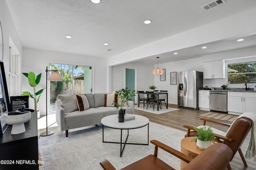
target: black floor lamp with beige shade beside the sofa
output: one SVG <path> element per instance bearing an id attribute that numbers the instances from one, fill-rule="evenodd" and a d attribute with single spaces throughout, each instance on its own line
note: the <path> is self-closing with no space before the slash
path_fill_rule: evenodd
<path id="1" fill-rule="evenodd" d="M 47 79 L 47 72 L 53 71 L 52 74 L 50 74 L 49 78 Z M 46 132 L 42 132 L 40 136 L 49 136 L 54 133 L 54 131 L 48 131 L 48 125 L 47 125 L 47 81 L 63 81 L 60 77 L 60 74 L 58 73 L 58 70 L 48 70 L 46 66 Z"/>

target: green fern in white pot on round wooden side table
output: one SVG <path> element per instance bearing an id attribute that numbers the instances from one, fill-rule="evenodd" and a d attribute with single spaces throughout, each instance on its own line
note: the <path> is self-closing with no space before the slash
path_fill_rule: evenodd
<path id="1" fill-rule="evenodd" d="M 214 133 L 210 127 L 208 127 L 208 129 L 206 129 L 205 126 L 200 127 L 200 128 L 194 127 L 194 129 L 196 130 L 198 135 L 197 135 L 197 137 L 194 137 L 191 140 L 191 142 L 196 141 L 196 145 L 200 149 L 205 150 L 206 148 L 208 148 L 210 146 L 210 142 L 215 143 Z"/>

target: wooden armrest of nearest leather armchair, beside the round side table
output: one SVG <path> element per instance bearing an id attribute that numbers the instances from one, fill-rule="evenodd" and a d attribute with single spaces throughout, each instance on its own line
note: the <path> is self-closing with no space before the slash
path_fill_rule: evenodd
<path id="1" fill-rule="evenodd" d="M 159 141 L 156 141 L 156 140 L 151 140 L 150 143 L 154 144 L 155 145 L 155 150 L 154 150 L 154 156 L 157 157 L 157 152 L 158 152 L 158 147 L 165 150 L 166 152 L 169 152 L 170 154 L 176 156 L 177 158 L 180 158 L 181 160 L 184 160 L 185 162 L 189 163 L 190 161 L 193 160 L 193 158 L 187 156 L 186 154 L 176 150 L 176 149 L 173 149 Z"/>

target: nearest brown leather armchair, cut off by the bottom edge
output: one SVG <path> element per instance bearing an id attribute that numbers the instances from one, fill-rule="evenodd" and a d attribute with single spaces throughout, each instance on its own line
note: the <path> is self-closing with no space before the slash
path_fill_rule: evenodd
<path id="1" fill-rule="evenodd" d="M 182 170 L 225 170 L 232 157 L 232 150 L 222 143 L 212 145 L 194 159 L 159 141 L 152 140 L 150 143 L 155 145 L 154 155 L 150 154 L 121 170 L 174 170 L 174 168 L 157 157 L 158 147 L 188 162 L 188 165 Z M 104 170 L 116 170 L 106 159 L 101 160 L 100 165 Z"/>

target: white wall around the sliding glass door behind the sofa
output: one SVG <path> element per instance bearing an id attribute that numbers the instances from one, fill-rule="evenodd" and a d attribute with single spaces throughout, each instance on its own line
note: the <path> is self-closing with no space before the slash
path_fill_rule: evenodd
<path id="1" fill-rule="evenodd" d="M 88 57 L 84 55 L 75 55 L 68 53 L 60 53 L 54 51 L 44 51 L 38 49 L 23 48 L 23 60 L 22 60 L 22 72 L 33 71 L 36 75 L 42 72 L 40 84 L 37 86 L 37 90 L 46 88 L 46 66 L 49 69 L 49 63 L 60 64 L 75 64 L 92 66 L 92 74 L 94 75 L 94 91 L 93 92 L 108 92 L 108 64 L 107 59 L 99 57 Z M 49 76 L 49 75 L 48 75 Z M 49 82 L 48 82 L 49 89 Z M 22 91 L 32 91 L 32 87 L 28 84 L 28 80 L 25 76 L 22 76 Z M 49 93 L 49 90 L 48 90 Z M 48 94 L 49 96 L 49 94 Z M 49 97 L 48 97 L 49 99 Z M 33 106 L 33 101 L 30 100 L 30 107 Z M 46 113 L 46 91 L 42 93 L 40 101 L 38 102 L 38 110 L 40 114 Z M 49 108 L 49 107 L 48 107 Z"/>

